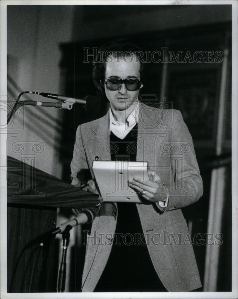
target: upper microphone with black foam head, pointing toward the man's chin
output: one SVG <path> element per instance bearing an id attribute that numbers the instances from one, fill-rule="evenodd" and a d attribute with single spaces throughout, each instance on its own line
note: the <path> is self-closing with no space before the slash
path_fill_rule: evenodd
<path id="1" fill-rule="evenodd" d="M 65 97 L 60 94 L 49 94 L 47 92 L 41 92 L 40 95 L 42 97 L 49 97 L 51 99 L 59 100 L 65 103 L 78 103 L 84 105 L 84 108 L 90 111 L 97 111 L 101 107 L 101 100 L 98 97 L 94 97 L 91 95 L 84 97 L 82 100 L 76 99 L 74 97 Z"/>

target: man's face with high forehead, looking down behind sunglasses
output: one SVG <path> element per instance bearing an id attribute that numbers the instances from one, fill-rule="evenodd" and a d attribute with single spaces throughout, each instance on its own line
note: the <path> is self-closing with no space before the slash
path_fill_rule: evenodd
<path id="1" fill-rule="evenodd" d="M 138 60 L 136 61 L 135 55 L 133 60 L 131 56 L 124 59 L 123 57 L 110 57 L 110 59 L 112 59 L 112 61 L 106 62 L 105 80 L 109 78 L 134 78 L 140 80 L 140 62 Z M 115 111 L 122 111 L 128 108 L 128 102 L 130 101 L 130 105 L 134 103 L 139 94 L 139 89 L 136 91 L 129 91 L 126 89 L 124 83 L 115 91 L 108 90 L 105 83 L 104 88 L 106 97 L 111 103 L 112 110 Z"/>

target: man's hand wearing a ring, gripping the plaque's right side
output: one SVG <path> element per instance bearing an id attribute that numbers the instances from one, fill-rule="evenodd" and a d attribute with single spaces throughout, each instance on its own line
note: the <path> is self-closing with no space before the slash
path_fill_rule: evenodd
<path id="1" fill-rule="evenodd" d="M 133 178 L 128 181 L 129 187 L 132 187 L 143 196 L 144 199 L 150 202 L 163 201 L 166 202 L 168 190 L 161 182 L 160 176 L 156 171 L 148 170 L 149 180 L 141 178 Z M 162 196 L 161 196 L 162 193 Z"/>

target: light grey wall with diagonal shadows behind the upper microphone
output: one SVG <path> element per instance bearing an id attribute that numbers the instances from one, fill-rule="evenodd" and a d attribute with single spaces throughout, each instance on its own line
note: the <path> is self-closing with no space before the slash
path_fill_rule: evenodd
<path id="1" fill-rule="evenodd" d="M 21 91 L 60 94 L 59 43 L 72 41 L 73 6 L 12 5 L 7 7 L 8 97 L 13 101 Z M 22 96 L 21 100 L 47 101 L 39 96 Z M 8 132 L 8 155 L 21 160 L 12 144 L 24 143 L 24 154 L 32 154 L 32 145 L 41 142 L 44 150 L 35 154 L 35 166 L 61 178 L 58 143 L 61 111 L 56 108 L 25 106 L 16 113 Z M 14 133 L 14 134 L 13 134 Z M 12 137 L 18 134 L 17 137 Z M 15 151 L 15 152 L 14 152 Z"/>

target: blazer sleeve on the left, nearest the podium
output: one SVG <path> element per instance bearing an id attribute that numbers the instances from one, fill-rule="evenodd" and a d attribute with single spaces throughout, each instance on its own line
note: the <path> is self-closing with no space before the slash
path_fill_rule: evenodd
<path id="1" fill-rule="evenodd" d="M 75 137 L 73 158 L 70 164 L 72 185 L 75 187 L 84 188 L 87 182 L 84 178 L 85 170 L 88 170 L 86 154 L 82 141 L 82 127 L 78 126 Z"/>

